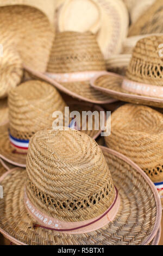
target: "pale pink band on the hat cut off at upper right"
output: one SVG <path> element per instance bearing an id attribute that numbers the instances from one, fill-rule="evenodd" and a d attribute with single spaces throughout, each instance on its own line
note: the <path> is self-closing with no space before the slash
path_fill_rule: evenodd
<path id="1" fill-rule="evenodd" d="M 131 93 L 163 98 L 163 87 L 124 79 L 122 88 Z"/>

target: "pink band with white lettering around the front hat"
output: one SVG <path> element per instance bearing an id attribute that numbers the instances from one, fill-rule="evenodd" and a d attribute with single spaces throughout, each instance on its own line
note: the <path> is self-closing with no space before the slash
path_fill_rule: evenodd
<path id="1" fill-rule="evenodd" d="M 36 224 L 35 227 L 56 230 L 64 233 L 82 234 L 102 228 L 114 220 L 120 207 L 120 197 L 118 196 L 118 191 L 116 188 L 115 191 L 115 198 L 109 209 L 107 209 L 101 216 L 81 222 L 64 222 L 58 220 L 57 218 L 52 218 L 43 214 L 30 202 L 27 197 L 26 189 L 24 190 L 24 204 L 26 205 L 29 214 L 32 215 L 33 218 L 40 224 Z"/>

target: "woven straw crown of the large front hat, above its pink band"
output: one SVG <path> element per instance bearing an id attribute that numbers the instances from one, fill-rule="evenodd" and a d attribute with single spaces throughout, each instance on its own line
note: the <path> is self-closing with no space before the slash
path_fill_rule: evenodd
<path id="1" fill-rule="evenodd" d="M 29 143 L 27 174 L 30 202 L 43 214 L 62 221 L 100 216 L 115 198 L 102 150 L 83 132 L 37 132 Z"/>

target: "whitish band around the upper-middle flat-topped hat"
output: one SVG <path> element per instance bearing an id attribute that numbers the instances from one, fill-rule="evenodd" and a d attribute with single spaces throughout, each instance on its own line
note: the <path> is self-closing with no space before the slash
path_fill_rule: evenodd
<path id="1" fill-rule="evenodd" d="M 57 82 L 79 82 L 87 81 L 96 75 L 103 75 L 103 71 L 83 71 L 83 72 L 72 72 L 72 73 L 61 73 L 61 74 L 51 74 L 46 73 L 49 78 L 56 80 Z"/>

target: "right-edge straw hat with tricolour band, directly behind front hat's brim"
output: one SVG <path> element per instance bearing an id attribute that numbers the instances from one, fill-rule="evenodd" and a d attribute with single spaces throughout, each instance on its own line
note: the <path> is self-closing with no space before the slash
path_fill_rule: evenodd
<path id="1" fill-rule="evenodd" d="M 151 178 L 163 203 L 163 115 L 147 106 L 126 104 L 111 115 L 106 145 L 133 160 Z"/>

